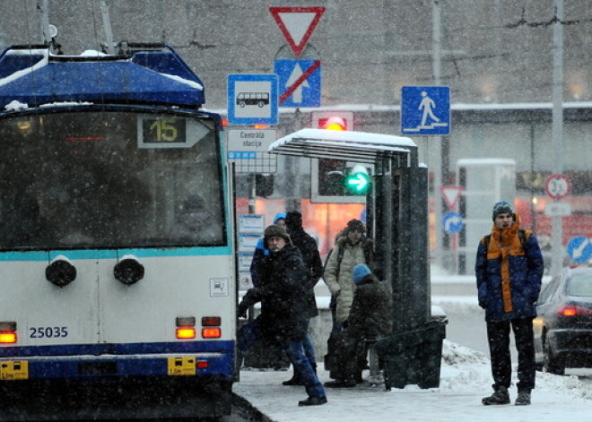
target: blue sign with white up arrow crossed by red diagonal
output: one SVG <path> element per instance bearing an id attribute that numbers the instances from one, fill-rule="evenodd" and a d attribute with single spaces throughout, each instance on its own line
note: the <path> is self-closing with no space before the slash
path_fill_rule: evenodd
<path id="1" fill-rule="evenodd" d="M 320 107 L 320 60 L 275 60 L 281 107 Z"/>

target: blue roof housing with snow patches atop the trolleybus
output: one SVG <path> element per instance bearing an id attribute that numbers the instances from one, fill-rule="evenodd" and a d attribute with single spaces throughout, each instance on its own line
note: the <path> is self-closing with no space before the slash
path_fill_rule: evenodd
<path id="1" fill-rule="evenodd" d="M 118 55 L 52 55 L 47 47 L 8 47 L 0 54 L 0 111 L 63 101 L 161 104 L 199 108 L 204 86 L 166 45 L 129 44 Z"/>

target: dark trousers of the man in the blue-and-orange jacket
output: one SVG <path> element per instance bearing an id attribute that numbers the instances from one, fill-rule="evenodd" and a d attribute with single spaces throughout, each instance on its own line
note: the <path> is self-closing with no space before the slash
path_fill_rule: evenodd
<path id="1" fill-rule="evenodd" d="M 518 390 L 535 388 L 535 344 L 533 318 L 517 318 L 511 321 L 488 322 L 487 339 L 492 356 L 493 389 L 509 388 L 512 380 L 512 362 L 509 355 L 509 327 L 514 332 L 518 349 Z"/>

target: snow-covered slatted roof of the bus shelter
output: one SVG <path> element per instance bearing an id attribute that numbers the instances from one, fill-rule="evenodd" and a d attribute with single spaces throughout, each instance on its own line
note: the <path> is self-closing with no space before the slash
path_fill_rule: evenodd
<path id="1" fill-rule="evenodd" d="M 403 156 L 408 160 L 408 165 L 418 165 L 415 142 L 410 138 L 382 133 L 300 129 L 272 143 L 267 152 L 359 162 Z"/>

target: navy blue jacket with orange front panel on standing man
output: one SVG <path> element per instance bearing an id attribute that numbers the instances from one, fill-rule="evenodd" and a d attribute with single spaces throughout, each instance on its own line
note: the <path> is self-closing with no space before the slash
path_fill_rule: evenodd
<path id="1" fill-rule="evenodd" d="M 479 306 L 485 309 L 488 322 L 536 316 L 535 302 L 544 271 L 543 254 L 534 235 L 522 247 L 519 220 L 515 220 L 508 228 L 492 228 L 487 251 L 483 239 L 477 248 L 474 272 Z"/>

